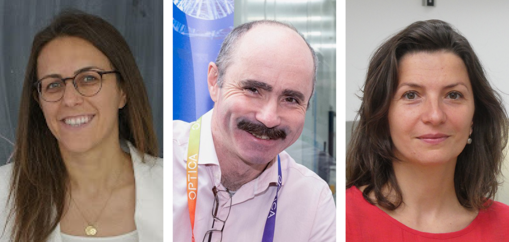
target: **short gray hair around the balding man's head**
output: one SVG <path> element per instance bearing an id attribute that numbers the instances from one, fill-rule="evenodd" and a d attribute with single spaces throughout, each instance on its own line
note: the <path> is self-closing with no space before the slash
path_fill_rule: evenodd
<path id="1" fill-rule="evenodd" d="M 237 46 L 238 40 L 242 36 L 244 36 L 244 34 L 247 33 L 249 31 L 249 29 L 251 29 L 254 26 L 261 25 L 261 24 L 279 25 L 279 26 L 288 27 L 288 28 L 292 29 L 293 31 L 295 31 L 297 34 L 299 34 L 300 37 L 302 37 L 302 39 L 304 40 L 304 42 L 306 42 L 307 47 L 309 47 L 309 50 L 311 51 L 311 54 L 313 55 L 313 90 L 311 92 L 311 96 L 309 97 L 309 99 L 311 99 L 311 97 L 313 97 L 313 94 L 315 93 L 315 85 L 317 83 L 317 67 L 318 67 L 317 54 L 316 54 L 315 50 L 313 49 L 313 47 L 311 47 L 311 45 L 309 45 L 309 43 L 306 41 L 304 36 L 297 30 L 297 28 L 295 28 L 290 23 L 280 22 L 280 21 L 276 21 L 276 20 L 266 20 L 265 19 L 265 20 L 256 20 L 256 21 L 251 21 L 251 22 L 240 24 L 239 26 L 235 27 L 232 30 L 232 32 L 230 32 L 230 34 L 228 34 L 228 36 L 226 38 L 224 38 L 224 41 L 221 44 L 221 49 L 219 50 L 219 54 L 217 55 L 216 62 L 215 62 L 216 66 L 217 66 L 217 72 L 218 72 L 217 73 L 217 85 L 219 86 L 219 88 L 222 87 L 222 84 L 224 81 L 223 80 L 224 74 L 226 73 L 226 69 L 228 69 L 228 67 L 232 64 L 232 61 L 233 61 L 232 53 L 233 53 L 233 50 L 235 49 L 235 47 Z M 307 103 L 307 107 L 309 107 L 309 102 Z"/>

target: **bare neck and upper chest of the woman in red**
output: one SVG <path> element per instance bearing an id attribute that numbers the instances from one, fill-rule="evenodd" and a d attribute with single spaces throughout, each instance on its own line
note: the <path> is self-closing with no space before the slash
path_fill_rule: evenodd
<path id="1" fill-rule="evenodd" d="M 380 207 L 392 218 L 419 231 L 446 233 L 465 228 L 477 215 L 477 211 L 463 207 L 456 196 L 456 160 L 432 165 L 392 164 L 403 203 L 395 210 Z M 393 195 L 394 191 L 385 189 L 385 193 Z"/>

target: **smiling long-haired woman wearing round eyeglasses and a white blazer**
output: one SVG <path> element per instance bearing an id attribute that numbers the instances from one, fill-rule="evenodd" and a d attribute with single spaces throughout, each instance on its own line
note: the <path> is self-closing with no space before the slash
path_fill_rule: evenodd
<path id="1" fill-rule="evenodd" d="M 0 241 L 162 241 L 151 109 L 111 24 L 64 12 L 35 36 L 16 135 Z"/>

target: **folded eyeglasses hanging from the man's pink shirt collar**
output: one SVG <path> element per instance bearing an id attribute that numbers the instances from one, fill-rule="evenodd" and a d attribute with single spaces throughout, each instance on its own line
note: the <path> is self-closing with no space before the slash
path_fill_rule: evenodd
<path id="1" fill-rule="evenodd" d="M 214 218 L 214 221 L 212 221 L 212 229 L 207 231 L 205 233 L 205 236 L 203 237 L 203 242 L 208 241 L 210 242 L 212 240 L 212 237 L 219 238 L 219 241 L 222 240 L 222 231 L 224 229 L 224 224 L 226 223 L 226 220 L 228 219 L 228 216 L 230 216 L 230 210 L 232 208 L 232 194 L 227 189 L 224 190 L 217 190 L 216 186 L 212 188 L 212 193 L 214 193 L 214 204 L 212 205 L 212 217 Z M 220 204 L 221 203 L 221 204 Z M 221 218 L 217 216 L 217 209 L 220 206 L 228 206 L 228 213 L 226 216 L 220 215 Z M 214 229 L 215 222 L 222 222 L 221 229 Z M 206 238 L 208 238 L 206 240 Z"/>

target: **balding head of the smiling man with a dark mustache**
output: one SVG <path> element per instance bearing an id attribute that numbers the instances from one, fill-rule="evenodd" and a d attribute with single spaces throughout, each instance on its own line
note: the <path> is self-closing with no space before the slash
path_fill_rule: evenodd
<path id="1" fill-rule="evenodd" d="M 316 56 L 293 27 L 279 22 L 248 23 L 232 33 L 208 69 L 216 153 L 267 164 L 302 133 Z"/>

